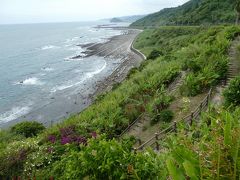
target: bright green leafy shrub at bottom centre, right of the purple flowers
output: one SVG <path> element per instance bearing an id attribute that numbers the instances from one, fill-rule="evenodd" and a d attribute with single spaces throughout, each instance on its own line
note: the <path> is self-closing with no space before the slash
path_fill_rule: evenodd
<path id="1" fill-rule="evenodd" d="M 132 141 L 93 139 L 53 164 L 56 179 L 159 179 L 163 161 L 152 151 L 132 153 Z M 166 177 L 164 177 L 166 178 Z"/>

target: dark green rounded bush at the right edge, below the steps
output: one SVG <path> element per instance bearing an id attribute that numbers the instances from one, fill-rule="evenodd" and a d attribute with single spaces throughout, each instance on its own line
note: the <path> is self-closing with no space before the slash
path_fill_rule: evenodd
<path id="1" fill-rule="evenodd" d="M 229 87 L 224 91 L 226 106 L 240 105 L 240 76 L 230 82 Z"/>

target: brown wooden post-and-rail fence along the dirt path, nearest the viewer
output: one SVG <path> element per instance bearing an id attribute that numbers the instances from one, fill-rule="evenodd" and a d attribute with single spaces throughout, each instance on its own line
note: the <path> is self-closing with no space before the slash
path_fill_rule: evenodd
<path id="1" fill-rule="evenodd" d="M 160 150 L 159 141 L 163 140 L 169 133 L 177 132 L 177 122 L 183 121 L 192 126 L 193 121 L 197 120 L 200 117 L 201 113 L 206 110 L 207 106 L 209 105 L 211 95 L 212 89 L 209 90 L 207 96 L 190 115 L 186 116 L 185 118 L 179 121 L 173 122 L 168 128 L 164 129 L 163 131 L 155 133 L 149 140 L 141 144 L 139 147 L 134 148 L 134 151 L 136 152 L 139 150 L 143 150 L 146 147 L 153 147 L 153 149 L 159 151 Z"/>

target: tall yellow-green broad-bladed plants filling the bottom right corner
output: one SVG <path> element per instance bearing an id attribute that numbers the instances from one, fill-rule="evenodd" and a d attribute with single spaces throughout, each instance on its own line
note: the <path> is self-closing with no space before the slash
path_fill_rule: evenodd
<path id="1" fill-rule="evenodd" d="M 166 165 L 172 179 L 239 179 L 240 109 L 210 109 L 193 133 L 169 139 Z M 186 128 L 187 126 L 183 126 Z"/>

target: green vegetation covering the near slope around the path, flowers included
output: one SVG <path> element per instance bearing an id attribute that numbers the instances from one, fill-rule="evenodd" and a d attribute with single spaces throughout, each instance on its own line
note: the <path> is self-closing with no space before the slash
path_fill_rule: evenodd
<path id="1" fill-rule="evenodd" d="M 199 126 L 179 124 L 178 134 L 161 142 L 160 154 L 150 149 L 135 154 L 134 138 L 115 138 L 143 113 L 171 121 L 174 114 L 167 108 L 172 97 L 166 87 L 181 71 L 187 72 L 183 94 L 193 96 L 216 85 L 226 75 L 227 50 L 239 33 L 235 26 L 144 31 L 135 47 L 147 56 L 157 50 L 159 56 L 145 61 L 85 111 L 32 138 L 19 131 L 0 131 L 0 178 L 238 177 L 239 145 L 233 145 L 239 144 L 240 110 L 235 107 L 232 114 L 212 109 Z"/>

